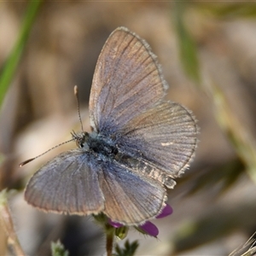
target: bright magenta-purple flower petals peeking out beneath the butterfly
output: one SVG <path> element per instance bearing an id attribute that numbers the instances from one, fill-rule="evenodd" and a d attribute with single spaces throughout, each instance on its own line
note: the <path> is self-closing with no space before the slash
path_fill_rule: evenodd
<path id="1" fill-rule="evenodd" d="M 163 208 L 163 211 L 160 212 L 156 218 L 165 218 L 172 214 L 172 207 L 166 204 L 166 207 Z M 120 228 L 123 224 L 119 224 L 117 222 L 113 222 L 111 219 L 108 219 L 108 224 L 111 224 L 114 228 Z M 149 236 L 157 237 L 159 234 L 158 228 L 150 221 L 146 221 L 143 225 L 139 225 L 136 229 L 143 234 L 147 234 Z"/>

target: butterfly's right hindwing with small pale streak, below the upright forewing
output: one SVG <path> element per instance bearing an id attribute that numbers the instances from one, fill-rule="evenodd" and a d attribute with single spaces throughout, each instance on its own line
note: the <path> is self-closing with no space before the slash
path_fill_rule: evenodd
<path id="1" fill-rule="evenodd" d="M 175 102 L 160 102 L 128 122 L 120 133 L 121 151 L 177 177 L 193 159 L 198 127 L 188 109 Z"/>

